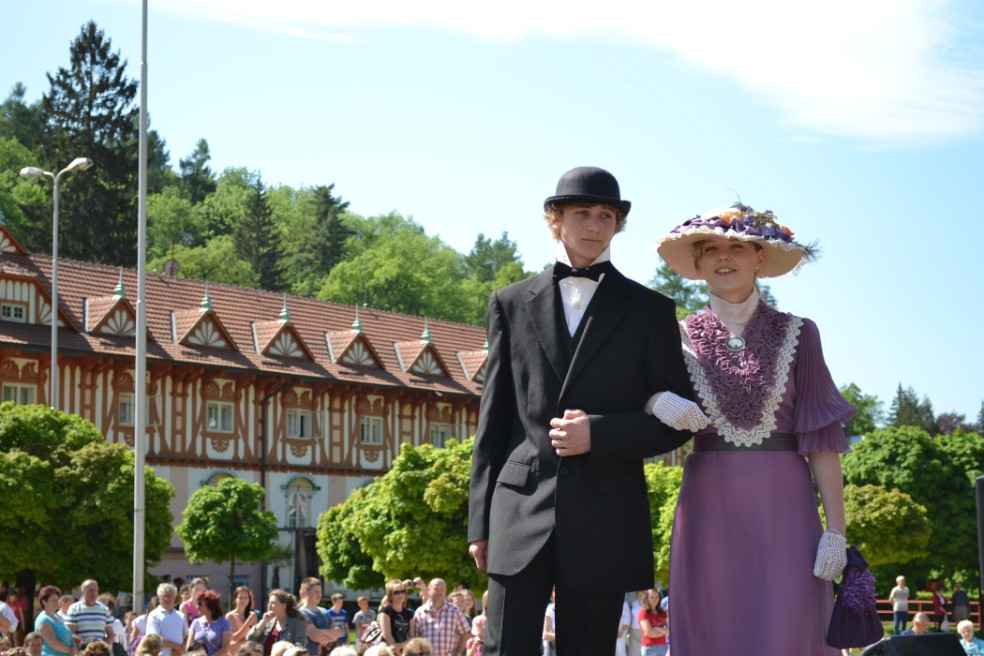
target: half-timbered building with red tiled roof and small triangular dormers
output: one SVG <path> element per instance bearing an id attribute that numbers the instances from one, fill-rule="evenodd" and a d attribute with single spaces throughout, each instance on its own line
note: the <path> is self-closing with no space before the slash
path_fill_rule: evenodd
<path id="1" fill-rule="evenodd" d="M 3 400 L 49 404 L 54 312 L 59 409 L 132 446 L 136 395 L 146 394 L 147 464 L 174 485 L 175 522 L 200 486 L 226 476 L 263 485 L 282 542 L 298 547 L 285 585 L 316 573 L 320 513 L 387 471 L 400 444 L 475 431 L 480 327 L 148 274 L 138 384 L 136 271 L 59 259 L 52 308 L 51 264 L 0 223 Z M 190 565 L 176 535 L 151 569 L 209 575 L 218 590 L 227 571 Z M 237 572 L 233 583 L 259 591 L 257 566 Z"/>

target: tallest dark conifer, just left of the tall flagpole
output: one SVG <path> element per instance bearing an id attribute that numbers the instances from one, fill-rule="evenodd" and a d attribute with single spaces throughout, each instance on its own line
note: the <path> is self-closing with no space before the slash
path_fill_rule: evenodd
<path id="1" fill-rule="evenodd" d="M 48 74 L 51 88 L 41 100 L 45 131 L 39 165 L 58 171 L 76 157 L 89 157 L 95 164 L 84 174 L 63 179 L 61 255 L 132 266 L 137 245 L 137 83 L 126 77 L 126 61 L 111 48 L 90 21 L 72 42 L 70 68 Z M 50 246 L 50 204 L 32 218 L 35 230 L 27 241 Z"/>

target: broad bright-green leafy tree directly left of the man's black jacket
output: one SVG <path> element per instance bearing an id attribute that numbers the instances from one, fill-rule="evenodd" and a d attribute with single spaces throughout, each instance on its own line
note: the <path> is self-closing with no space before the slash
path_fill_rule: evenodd
<path id="1" fill-rule="evenodd" d="M 403 444 L 385 475 L 318 520 L 322 573 L 352 583 L 440 576 L 484 589 L 468 555 L 473 440 L 444 448 Z M 366 570 L 371 559 L 374 578 Z"/>

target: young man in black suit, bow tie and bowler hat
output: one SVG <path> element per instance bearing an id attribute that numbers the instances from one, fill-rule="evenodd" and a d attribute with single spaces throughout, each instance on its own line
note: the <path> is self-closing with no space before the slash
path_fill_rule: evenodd
<path id="1" fill-rule="evenodd" d="M 653 586 L 644 459 L 690 437 L 643 412 L 692 393 L 673 302 L 609 261 L 630 208 L 615 177 L 568 171 L 544 207 L 557 263 L 488 308 L 468 526 L 486 656 L 537 653 L 554 585 L 558 654 L 614 653 L 624 593 Z"/>

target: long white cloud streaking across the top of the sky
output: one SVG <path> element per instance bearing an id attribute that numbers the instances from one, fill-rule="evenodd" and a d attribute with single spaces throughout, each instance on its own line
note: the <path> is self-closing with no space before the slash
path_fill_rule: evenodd
<path id="1" fill-rule="evenodd" d="M 604 35 L 737 81 L 806 132 L 939 140 L 984 125 L 980 24 L 946 0 L 161 0 L 156 8 L 305 38 L 377 26 L 511 41 Z M 959 23 L 962 30 L 957 29 Z M 958 65 L 957 62 L 960 62 Z"/>

